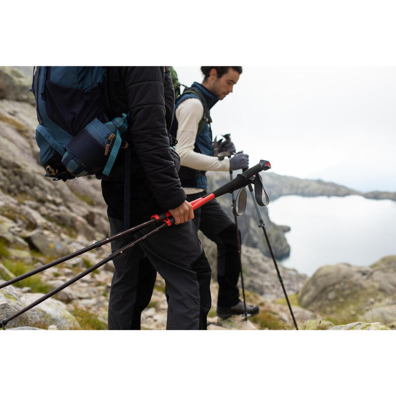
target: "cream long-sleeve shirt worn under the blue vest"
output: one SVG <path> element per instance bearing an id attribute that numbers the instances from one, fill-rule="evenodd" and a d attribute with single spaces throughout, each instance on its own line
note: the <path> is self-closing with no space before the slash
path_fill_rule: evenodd
<path id="1" fill-rule="evenodd" d="M 217 157 L 194 151 L 198 124 L 202 116 L 203 105 L 197 98 L 182 101 L 176 109 L 178 143 L 175 149 L 180 156 L 180 164 L 198 170 L 229 171 L 229 158 L 219 161 Z M 184 187 L 184 191 L 186 194 L 196 194 L 203 189 Z"/>

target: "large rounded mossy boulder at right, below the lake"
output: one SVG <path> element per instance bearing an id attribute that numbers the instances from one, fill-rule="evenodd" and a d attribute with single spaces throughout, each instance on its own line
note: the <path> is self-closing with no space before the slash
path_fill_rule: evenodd
<path id="1" fill-rule="evenodd" d="M 298 293 L 302 307 L 343 322 L 395 320 L 386 307 L 396 299 L 396 256 L 387 256 L 369 267 L 325 265 Z M 373 316 L 373 315 L 376 316 Z"/>

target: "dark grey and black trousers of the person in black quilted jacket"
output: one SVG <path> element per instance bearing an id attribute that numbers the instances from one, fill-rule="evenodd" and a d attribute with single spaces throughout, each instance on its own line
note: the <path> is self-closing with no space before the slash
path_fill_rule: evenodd
<path id="1" fill-rule="evenodd" d="M 108 218 L 111 235 L 123 230 L 121 220 Z M 111 242 L 111 250 L 127 245 L 156 226 Z M 159 231 L 113 262 L 109 330 L 140 329 L 141 312 L 150 301 L 156 271 L 164 278 L 169 294 L 166 329 L 206 330 L 211 306 L 211 270 L 192 221 Z"/>

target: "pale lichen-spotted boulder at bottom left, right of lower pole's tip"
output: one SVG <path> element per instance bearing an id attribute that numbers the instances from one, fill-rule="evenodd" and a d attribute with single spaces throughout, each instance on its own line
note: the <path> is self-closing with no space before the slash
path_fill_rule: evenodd
<path id="1" fill-rule="evenodd" d="M 21 301 L 24 305 L 29 305 L 42 296 L 42 293 L 26 293 L 21 296 Z M 51 297 L 29 309 L 27 313 L 32 325 L 36 327 L 47 329 L 50 325 L 56 325 L 60 330 L 80 329 L 79 323 L 66 309 L 66 305 Z"/>

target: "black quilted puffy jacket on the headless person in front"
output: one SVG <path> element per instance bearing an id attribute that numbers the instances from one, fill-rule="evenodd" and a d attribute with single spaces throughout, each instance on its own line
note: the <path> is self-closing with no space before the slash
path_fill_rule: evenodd
<path id="1" fill-rule="evenodd" d="M 107 98 L 110 116 L 129 112 L 125 140 L 132 149 L 132 183 L 134 179 L 145 178 L 159 206 L 174 209 L 184 202 L 186 194 L 180 185 L 167 134 L 175 101 L 169 68 L 165 68 L 165 78 L 164 66 L 120 66 L 118 71 L 118 77 L 111 71 L 108 75 Z M 121 183 L 123 175 L 121 149 L 110 175 L 97 177 Z M 111 188 L 111 184 L 105 185 L 104 188 Z"/>

